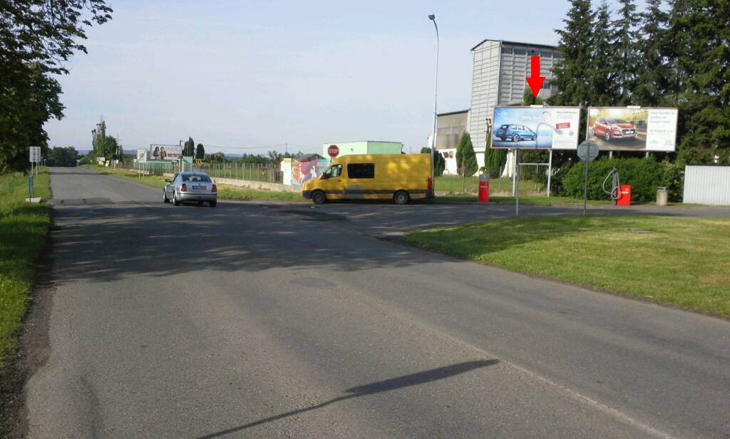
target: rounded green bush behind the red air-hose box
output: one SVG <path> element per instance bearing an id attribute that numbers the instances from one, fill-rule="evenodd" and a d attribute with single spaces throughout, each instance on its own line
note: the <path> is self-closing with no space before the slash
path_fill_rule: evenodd
<path id="1" fill-rule="evenodd" d="M 618 169 L 621 184 L 631 185 L 631 201 L 648 202 L 656 200 L 656 190 L 666 186 L 665 171 L 656 161 L 644 158 L 599 159 L 588 168 L 588 198 L 605 200 L 602 184 L 612 168 Z M 563 180 L 561 195 L 583 198 L 583 174 L 585 162 L 572 166 Z M 606 182 L 606 189 L 611 190 L 611 179 Z"/>

